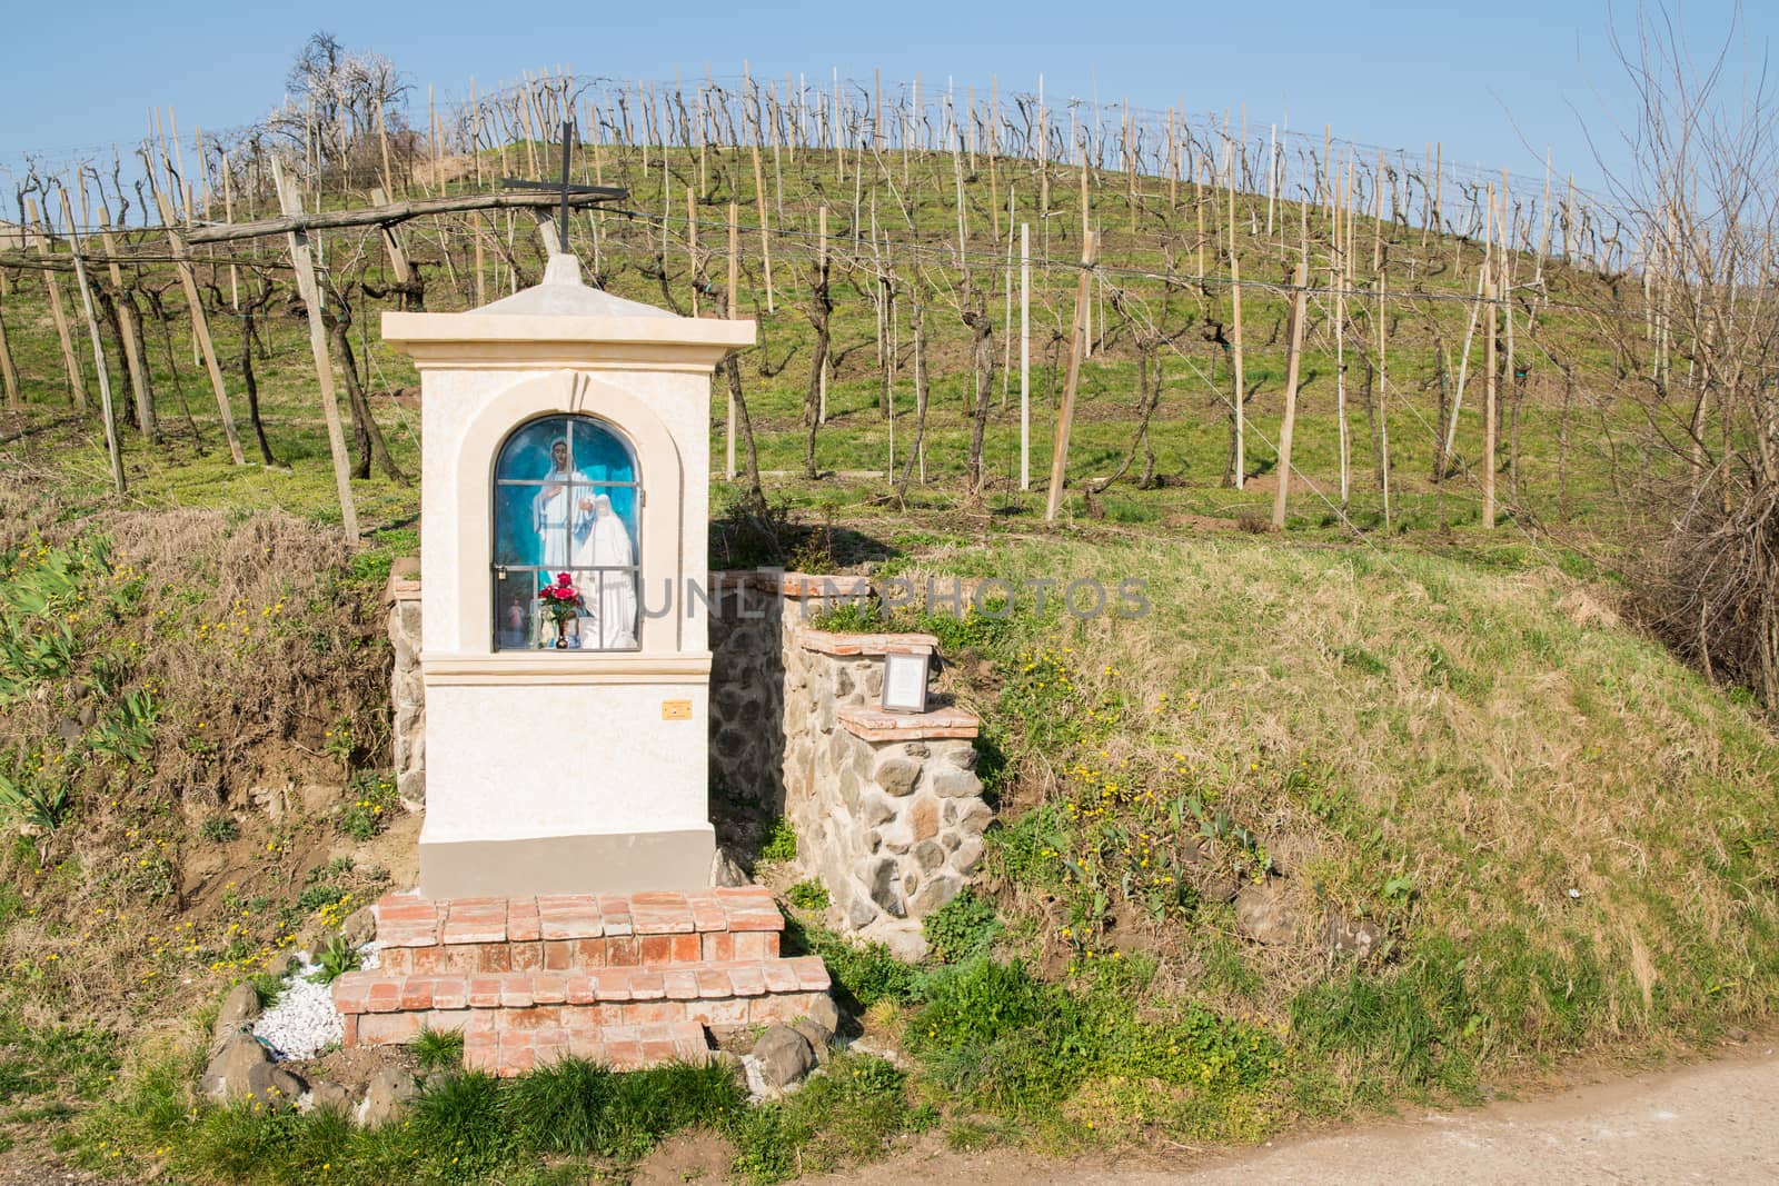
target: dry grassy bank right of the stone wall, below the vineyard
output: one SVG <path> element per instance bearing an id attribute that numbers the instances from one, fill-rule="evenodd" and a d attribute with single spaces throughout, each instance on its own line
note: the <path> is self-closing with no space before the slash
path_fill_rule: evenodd
<path id="1" fill-rule="evenodd" d="M 1146 617 L 959 631 L 1005 676 L 975 697 L 1018 772 L 998 868 L 1051 957 L 1128 944 L 1130 903 L 1163 983 L 1290 1024 L 1348 983 L 1322 921 L 1364 918 L 1395 942 L 1366 976 L 1421 976 L 1430 1001 L 1452 973 L 1436 1012 L 1461 1015 L 1434 1037 L 1478 1060 L 1779 1001 L 1779 745 L 1599 589 L 1236 537 L 1026 541 L 911 571 L 1147 581 Z M 1297 944 L 1238 939 L 1220 905 L 1265 862 Z M 1153 909 L 1156 869 L 1195 893 Z"/>

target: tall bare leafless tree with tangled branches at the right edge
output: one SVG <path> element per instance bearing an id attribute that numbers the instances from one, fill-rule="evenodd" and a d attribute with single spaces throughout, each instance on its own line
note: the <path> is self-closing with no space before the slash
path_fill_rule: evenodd
<path id="1" fill-rule="evenodd" d="M 1779 158 L 1765 62 L 1731 62 L 1738 32 L 1701 57 L 1665 9 L 1640 11 L 1633 39 L 1614 37 L 1637 94 L 1617 130 L 1630 164 L 1598 155 L 1621 222 L 1647 244 L 1662 322 L 1646 343 L 1615 318 L 1626 354 L 1649 354 L 1624 388 L 1660 512 L 1640 605 L 1708 672 L 1779 709 Z"/>

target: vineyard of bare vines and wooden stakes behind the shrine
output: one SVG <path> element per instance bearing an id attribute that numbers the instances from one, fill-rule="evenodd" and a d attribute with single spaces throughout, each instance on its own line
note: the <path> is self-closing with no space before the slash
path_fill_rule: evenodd
<path id="1" fill-rule="evenodd" d="M 1624 477 L 1713 430 L 1660 245 L 1555 174 L 918 82 L 544 76 L 429 103 L 420 128 L 372 107 L 183 142 L 169 112 L 128 167 L 25 176 L 28 242 L 0 254 L 9 409 L 85 414 L 68 427 L 98 445 L 96 334 L 137 496 L 224 450 L 304 471 L 322 409 L 301 228 L 352 468 L 379 473 L 358 498 L 398 519 L 413 373 L 377 313 L 535 283 L 555 197 L 498 187 L 555 176 L 573 121 L 569 176 L 628 194 L 575 199 L 592 283 L 761 322 L 713 407 L 744 485 L 1041 501 L 1076 338 L 1075 514 L 1265 514 L 1284 485 L 1293 528 L 1457 526 L 1485 503 L 1519 528 L 1622 523 Z M 93 471 L 80 445 L 52 455 Z M 224 480 L 244 482 L 302 487 Z"/>

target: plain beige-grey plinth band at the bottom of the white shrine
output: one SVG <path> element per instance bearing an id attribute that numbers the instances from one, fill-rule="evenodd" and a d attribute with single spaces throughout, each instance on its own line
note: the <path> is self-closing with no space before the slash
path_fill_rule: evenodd
<path id="1" fill-rule="evenodd" d="M 605 832 L 519 839 L 420 837 L 425 898 L 628 894 L 710 887 L 717 834 L 708 823 L 672 832 Z"/>

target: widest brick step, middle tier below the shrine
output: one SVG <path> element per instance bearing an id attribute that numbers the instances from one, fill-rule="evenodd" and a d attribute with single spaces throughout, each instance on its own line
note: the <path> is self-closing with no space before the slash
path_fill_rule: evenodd
<path id="1" fill-rule="evenodd" d="M 334 1008 L 345 1046 L 411 1042 L 422 1028 L 464 1035 L 697 1022 L 749 1026 L 795 1021 L 829 990 L 818 957 L 728 960 L 690 967 L 607 967 L 591 973 L 390 974 L 345 973 Z"/>

